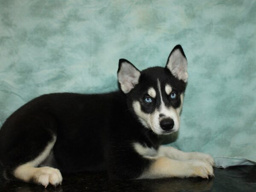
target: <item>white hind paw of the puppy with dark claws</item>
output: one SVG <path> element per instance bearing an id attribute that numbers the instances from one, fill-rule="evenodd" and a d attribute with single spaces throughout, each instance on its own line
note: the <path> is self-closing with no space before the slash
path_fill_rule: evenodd
<path id="1" fill-rule="evenodd" d="M 62 182 L 61 172 L 58 169 L 52 167 L 40 167 L 33 175 L 33 180 L 35 183 L 43 185 L 45 188 L 48 184 L 57 186 Z"/>

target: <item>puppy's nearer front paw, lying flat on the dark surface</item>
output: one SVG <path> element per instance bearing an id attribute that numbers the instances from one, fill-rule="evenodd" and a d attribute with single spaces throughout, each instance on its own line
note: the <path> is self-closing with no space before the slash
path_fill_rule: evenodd
<path id="1" fill-rule="evenodd" d="M 199 160 L 189 160 L 189 177 L 202 177 L 209 178 L 214 177 L 213 168 L 209 163 Z"/>

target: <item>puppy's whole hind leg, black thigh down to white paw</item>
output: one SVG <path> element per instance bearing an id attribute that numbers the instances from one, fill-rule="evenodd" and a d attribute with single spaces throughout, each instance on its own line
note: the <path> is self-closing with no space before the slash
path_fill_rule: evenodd
<path id="1" fill-rule="evenodd" d="M 61 184 L 62 176 L 58 169 L 39 167 L 53 149 L 56 130 L 54 120 L 45 114 L 26 116 L 15 123 L 6 121 L 0 130 L 0 156 L 6 179 L 33 182 L 45 187 Z"/>

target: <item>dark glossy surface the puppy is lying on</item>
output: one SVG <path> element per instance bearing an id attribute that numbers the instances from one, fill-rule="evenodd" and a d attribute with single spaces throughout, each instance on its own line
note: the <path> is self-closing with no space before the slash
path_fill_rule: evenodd
<path id="1" fill-rule="evenodd" d="M 1 168 L 0 168 L 1 169 Z M 0 170 L 2 175 L 2 170 Z M 0 192 L 256 192 L 256 166 L 215 168 L 215 177 L 168 178 L 155 180 L 108 180 L 105 173 L 63 174 L 61 186 L 54 188 L 30 183 L 6 182 L 0 178 Z"/>

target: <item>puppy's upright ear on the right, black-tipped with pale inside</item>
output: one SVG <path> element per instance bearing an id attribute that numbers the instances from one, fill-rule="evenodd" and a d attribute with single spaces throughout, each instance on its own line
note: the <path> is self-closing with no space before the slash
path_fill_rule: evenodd
<path id="1" fill-rule="evenodd" d="M 186 56 L 180 45 L 176 45 L 169 55 L 166 68 L 168 68 L 172 75 L 179 80 L 186 82 L 188 80 L 188 64 Z"/>

